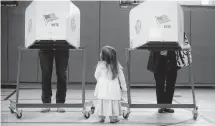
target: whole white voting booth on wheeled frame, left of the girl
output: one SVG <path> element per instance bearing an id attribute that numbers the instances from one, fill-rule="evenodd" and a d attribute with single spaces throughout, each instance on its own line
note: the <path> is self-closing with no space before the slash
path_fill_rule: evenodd
<path id="1" fill-rule="evenodd" d="M 39 49 L 68 49 L 82 52 L 82 102 L 78 104 L 32 104 L 19 103 L 22 52 Z M 19 108 L 83 108 L 85 118 L 94 112 L 86 110 L 85 103 L 85 47 L 80 46 L 80 10 L 70 0 L 33 1 L 25 10 L 25 47 L 19 48 L 16 101 L 10 101 L 10 111 L 22 117 Z"/>

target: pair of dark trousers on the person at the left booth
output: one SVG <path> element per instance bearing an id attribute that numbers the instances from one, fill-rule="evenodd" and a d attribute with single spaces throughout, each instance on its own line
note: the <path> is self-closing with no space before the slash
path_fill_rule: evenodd
<path id="1" fill-rule="evenodd" d="M 51 103 L 52 88 L 51 78 L 53 60 L 55 58 L 57 74 L 56 103 L 65 103 L 67 91 L 67 66 L 69 59 L 68 50 L 40 50 L 40 66 L 42 69 L 42 101 Z"/>

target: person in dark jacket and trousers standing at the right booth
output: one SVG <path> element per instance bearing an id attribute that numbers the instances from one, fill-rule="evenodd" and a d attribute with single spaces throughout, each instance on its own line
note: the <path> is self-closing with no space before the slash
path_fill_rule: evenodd
<path id="1" fill-rule="evenodd" d="M 184 33 L 185 40 L 187 39 Z M 157 104 L 172 104 L 177 79 L 177 58 L 175 51 L 151 51 L 147 69 L 154 73 Z M 160 108 L 158 113 L 174 113 L 171 108 Z"/>

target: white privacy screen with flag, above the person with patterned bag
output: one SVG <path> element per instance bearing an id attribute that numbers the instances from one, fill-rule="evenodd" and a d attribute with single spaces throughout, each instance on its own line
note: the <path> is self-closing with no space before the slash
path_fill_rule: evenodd
<path id="1" fill-rule="evenodd" d="M 184 15 L 175 1 L 144 1 L 129 14 L 130 48 L 184 44 Z"/>

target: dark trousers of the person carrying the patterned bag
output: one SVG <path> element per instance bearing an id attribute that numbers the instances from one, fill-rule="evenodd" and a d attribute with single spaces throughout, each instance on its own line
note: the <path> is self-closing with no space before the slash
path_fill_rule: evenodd
<path id="1" fill-rule="evenodd" d="M 168 67 L 165 67 L 167 59 L 163 58 L 162 60 L 161 64 L 159 64 L 162 68 L 154 73 L 157 104 L 172 104 L 177 79 L 177 69 L 168 69 Z"/>

